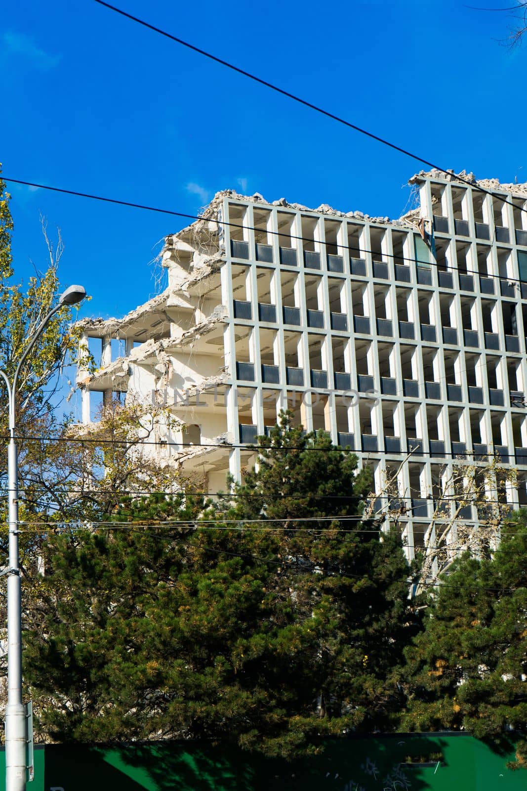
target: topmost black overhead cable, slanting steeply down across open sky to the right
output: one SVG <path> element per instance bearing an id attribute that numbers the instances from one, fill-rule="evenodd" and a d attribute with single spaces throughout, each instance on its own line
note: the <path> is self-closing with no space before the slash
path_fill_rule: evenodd
<path id="1" fill-rule="evenodd" d="M 325 110 L 324 108 L 319 107 L 317 104 L 314 104 L 313 102 L 308 101 L 307 99 L 303 99 L 302 97 L 297 96 L 295 93 L 286 91 L 285 89 L 280 88 L 278 85 L 274 85 L 272 82 L 264 80 L 263 78 L 258 77 L 256 74 L 252 74 L 250 71 L 242 69 L 239 66 L 235 66 L 233 63 L 230 63 L 222 58 L 219 58 L 217 55 L 213 55 L 212 52 L 208 52 L 204 49 L 201 49 L 201 47 L 197 47 L 195 44 L 190 44 L 190 42 L 185 41 L 179 38 L 178 36 L 174 36 L 172 33 L 169 33 L 167 30 L 164 30 L 163 28 L 158 28 L 156 27 L 156 25 L 152 25 L 150 24 L 150 22 L 147 22 L 144 19 L 140 19 L 139 17 L 134 17 L 133 14 L 128 13 L 123 9 L 120 9 L 117 6 L 112 6 L 108 2 L 104 2 L 104 0 L 95 0 L 95 2 L 98 3 L 100 6 L 104 6 L 105 8 L 114 11 L 115 13 L 119 13 L 122 17 L 126 17 L 126 19 L 129 19 L 130 21 L 136 22 L 137 25 L 142 25 L 144 28 L 148 28 L 149 30 L 152 30 L 152 32 L 159 33 L 160 36 L 164 36 L 165 38 L 173 41 L 175 44 L 180 44 L 183 47 L 187 47 L 187 49 L 190 49 L 198 53 L 198 55 L 203 55 L 205 58 L 208 58 L 209 60 L 212 60 L 216 63 L 219 63 L 220 66 L 225 66 L 226 68 L 237 72 L 237 74 L 241 74 L 243 77 L 247 77 L 248 79 L 253 80 L 254 82 L 258 82 L 260 85 L 264 85 L 265 88 L 269 88 L 273 91 L 276 91 L 277 93 L 281 93 L 282 96 L 287 97 L 288 99 L 292 99 L 293 101 L 298 102 L 299 104 L 303 104 L 304 107 L 314 110 L 314 112 L 318 112 L 321 113 L 322 115 L 326 115 L 327 118 L 330 118 L 333 121 L 337 121 L 337 123 L 343 124 L 344 127 L 348 127 L 353 131 L 359 132 L 359 134 L 364 134 L 366 135 L 366 137 L 371 138 L 372 140 L 375 140 L 379 143 L 382 143 L 383 146 L 388 146 L 390 149 L 393 149 L 394 151 L 398 151 L 399 153 L 405 154 L 406 157 L 410 157 L 411 159 L 414 159 L 417 162 L 421 162 L 421 164 L 427 165 L 429 168 L 434 168 L 435 170 L 439 170 L 440 172 L 445 173 L 447 176 L 452 176 L 451 171 L 447 170 L 446 168 L 442 168 L 440 165 L 435 165 L 434 162 L 431 162 L 430 160 L 427 160 L 424 157 L 420 157 L 419 154 L 412 153 L 412 151 L 408 151 L 408 149 L 404 149 L 401 146 L 397 146 L 395 143 L 390 142 L 390 140 L 386 140 L 386 138 L 382 138 L 378 134 L 374 134 L 373 132 L 370 132 L 367 129 L 363 129 L 363 127 L 357 126 L 356 123 L 347 121 L 344 118 L 341 118 L 340 115 L 336 115 L 333 112 L 329 112 L 329 110 Z M 486 190 L 484 187 L 480 187 L 479 185 L 472 184 L 472 182 L 470 182 L 468 179 L 463 178 L 462 176 L 456 176 L 456 180 L 459 180 L 464 184 L 468 184 L 469 187 L 473 187 L 478 191 L 483 192 L 485 195 L 492 195 L 492 192 L 490 190 Z M 504 202 L 509 203 L 510 206 L 515 206 L 515 204 L 512 202 L 508 202 L 506 200 L 504 200 Z M 515 206 L 515 208 L 521 208 L 521 207 Z M 522 208 L 521 210 L 527 211 L 527 209 L 522 209 Z"/>

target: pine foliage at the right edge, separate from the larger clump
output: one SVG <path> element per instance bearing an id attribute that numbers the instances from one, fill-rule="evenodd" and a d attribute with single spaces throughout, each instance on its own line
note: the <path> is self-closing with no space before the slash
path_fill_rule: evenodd
<path id="1" fill-rule="evenodd" d="M 526 766 L 527 510 L 503 526 L 492 557 L 467 553 L 431 600 L 424 629 L 408 649 L 408 706 L 401 726 L 464 729 L 499 744 L 523 735 Z"/>

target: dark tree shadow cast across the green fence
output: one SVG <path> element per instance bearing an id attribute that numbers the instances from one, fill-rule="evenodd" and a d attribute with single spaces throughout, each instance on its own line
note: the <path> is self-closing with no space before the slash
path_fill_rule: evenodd
<path id="1" fill-rule="evenodd" d="M 427 791 L 446 773 L 446 740 L 427 736 L 329 742 L 322 755 L 292 763 L 210 744 L 47 747 L 46 787 L 63 791 Z M 405 760 L 427 759 L 429 765 Z M 460 774 L 461 771 L 461 774 Z M 470 789 L 458 767 L 458 788 Z M 439 779 L 439 778 L 438 778 Z M 445 786 L 451 791 L 454 783 Z"/>

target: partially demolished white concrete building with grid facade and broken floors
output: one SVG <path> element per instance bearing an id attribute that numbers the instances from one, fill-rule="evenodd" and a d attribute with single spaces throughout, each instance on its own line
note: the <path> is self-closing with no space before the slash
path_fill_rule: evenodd
<path id="1" fill-rule="evenodd" d="M 378 491 L 396 474 L 412 554 L 454 460 L 527 473 L 527 184 L 460 176 L 414 176 L 416 208 L 393 221 L 218 193 L 165 240 L 163 293 L 82 323 L 101 341 L 83 421 L 93 392 L 168 404 L 157 458 L 216 492 L 290 409 Z M 489 498 L 524 505 L 525 483 Z"/>

